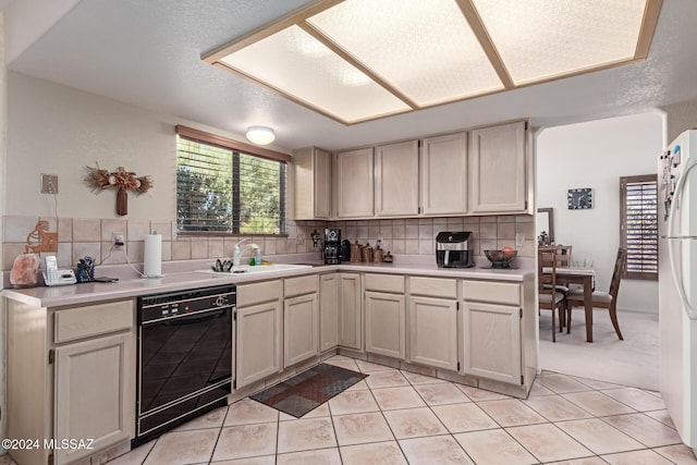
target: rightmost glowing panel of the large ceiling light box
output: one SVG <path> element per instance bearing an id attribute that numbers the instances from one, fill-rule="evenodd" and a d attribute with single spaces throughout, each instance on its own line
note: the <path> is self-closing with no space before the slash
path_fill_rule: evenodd
<path id="1" fill-rule="evenodd" d="M 516 85 L 634 59 L 645 0 L 473 0 Z"/>

